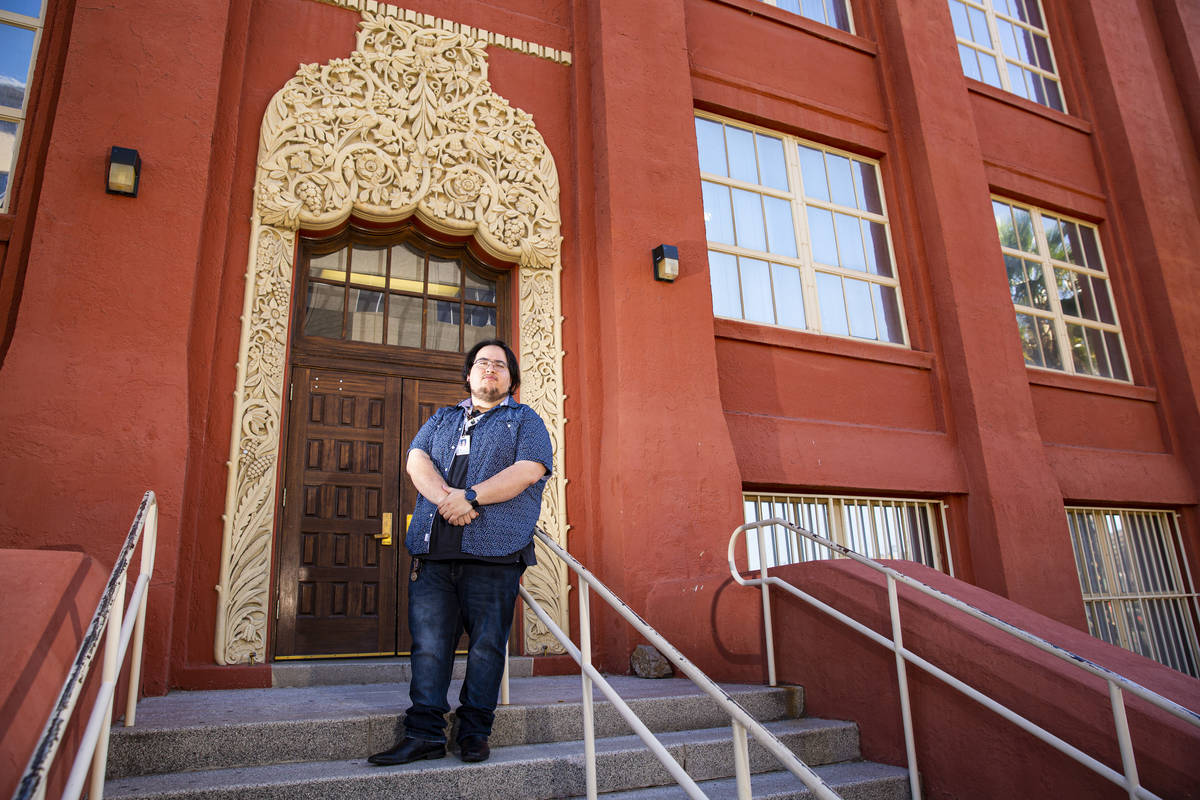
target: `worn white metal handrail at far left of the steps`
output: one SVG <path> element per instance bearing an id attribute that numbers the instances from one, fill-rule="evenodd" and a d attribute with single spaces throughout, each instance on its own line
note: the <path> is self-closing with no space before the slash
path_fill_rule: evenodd
<path id="1" fill-rule="evenodd" d="M 142 545 L 142 563 L 138 569 L 138 579 L 130 595 L 128 609 L 125 608 L 125 588 L 130 569 L 130 560 L 133 558 L 133 549 L 138 540 L 145 533 L 145 542 Z M 108 732 L 113 718 L 113 702 L 116 693 L 116 679 L 121 666 L 125 663 L 125 655 L 128 650 L 130 640 L 133 642 L 133 658 L 130 666 L 128 698 L 125 705 L 125 727 L 133 724 L 138 702 L 138 685 L 142 679 L 142 643 L 145 631 L 146 599 L 150 589 L 150 577 L 154 575 L 155 549 L 158 543 L 158 501 L 154 492 L 146 492 L 142 497 L 142 505 L 133 517 L 130 533 L 125 537 L 125 545 L 116 557 L 113 572 L 104 587 L 104 593 L 100 596 L 100 604 L 91 618 L 91 624 L 84 632 L 79 651 L 76 654 L 67 679 L 62 682 L 62 691 L 54 703 L 42 735 L 37 740 L 34 754 L 29 759 L 29 765 L 22 775 L 13 800 L 42 800 L 46 796 L 46 780 L 49 775 L 50 765 L 58 754 L 59 745 L 66 733 L 71 714 L 74 711 L 76 702 L 83 692 L 84 682 L 91 669 L 91 663 L 100 648 L 100 637 L 104 636 L 104 662 L 101 672 L 101 685 L 92 704 L 91 714 L 88 717 L 88 727 L 84 729 L 79 750 L 76 753 L 67 777 L 66 787 L 62 790 L 64 800 L 78 800 L 83 792 L 84 780 L 88 777 L 89 765 L 91 768 L 91 783 L 88 796 L 91 800 L 102 800 L 104 794 L 104 771 L 108 766 Z M 126 612 L 134 609 L 133 614 Z"/>

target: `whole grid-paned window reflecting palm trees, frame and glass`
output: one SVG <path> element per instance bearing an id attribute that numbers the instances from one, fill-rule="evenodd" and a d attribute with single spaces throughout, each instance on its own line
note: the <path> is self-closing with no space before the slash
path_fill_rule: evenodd
<path id="1" fill-rule="evenodd" d="M 1096 228 L 992 198 L 1025 363 L 1129 380 Z"/>

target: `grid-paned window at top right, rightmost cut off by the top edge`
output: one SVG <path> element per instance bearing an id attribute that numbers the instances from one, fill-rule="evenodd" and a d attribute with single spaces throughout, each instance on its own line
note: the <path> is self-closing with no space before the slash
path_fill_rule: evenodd
<path id="1" fill-rule="evenodd" d="M 949 0 L 968 78 L 1067 110 L 1040 0 Z"/>

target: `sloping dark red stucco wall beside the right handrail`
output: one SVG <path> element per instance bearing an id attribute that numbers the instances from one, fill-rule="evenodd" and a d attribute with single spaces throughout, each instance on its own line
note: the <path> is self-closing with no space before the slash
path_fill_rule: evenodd
<path id="1" fill-rule="evenodd" d="M 911 561 L 886 564 L 1200 710 L 1200 680 L 935 570 Z M 772 575 L 890 638 L 882 575 L 845 559 L 778 567 Z M 1123 771 L 1106 681 L 902 585 L 899 597 L 908 650 Z M 892 651 L 779 590 L 772 591 L 772 615 L 779 682 L 805 687 L 810 715 L 856 721 L 864 758 L 905 765 Z M 908 679 L 926 798 L 1128 798 L 1115 783 L 912 664 Z M 1127 696 L 1126 708 L 1142 786 L 1164 798 L 1200 798 L 1200 729 L 1139 698 Z"/>

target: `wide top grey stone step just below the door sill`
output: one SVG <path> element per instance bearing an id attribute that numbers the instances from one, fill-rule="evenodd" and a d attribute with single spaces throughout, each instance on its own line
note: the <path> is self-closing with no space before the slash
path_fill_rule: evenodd
<path id="1" fill-rule="evenodd" d="M 728 717 L 689 680 L 612 676 L 611 682 L 654 732 L 725 726 Z M 449 696 L 458 697 L 460 684 Z M 726 685 L 760 721 L 797 717 L 800 687 Z M 616 709 L 596 698 L 596 735 L 631 733 Z M 514 678 L 510 705 L 497 709 L 493 747 L 582 740 L 578 675 Z M 451 706 L 456 703 L 451 702 Z M 361 759 L 391 747 L 408 708 L 407 684 L 178 692 L 138 704 L 137 726 L 115 727 L 108 777 Z M 451 714 L 452 717 L 452 714 Z M 452 726 L 452 720 L 451 720 Z M 451 728 L 452 729 L 452 728 Z"/>

